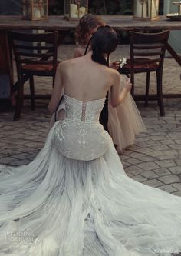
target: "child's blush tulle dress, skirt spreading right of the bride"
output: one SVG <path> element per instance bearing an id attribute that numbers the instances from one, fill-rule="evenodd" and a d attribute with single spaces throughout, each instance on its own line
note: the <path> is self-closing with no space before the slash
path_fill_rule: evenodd
<path id="1" fill-rule="evenodd" d="M 120 90 L 127 80 L 126 75 L 120 75 Z M 110 93 L 109 93 L 110 96 Z M 116 145 L 117 152 L 134 144 L 135 138 L 140 132 L 146 131 L 140 111 L 137 108 L 130 92 L 117 108 L 113 108 L 108 101 L 108 130 Z"/>

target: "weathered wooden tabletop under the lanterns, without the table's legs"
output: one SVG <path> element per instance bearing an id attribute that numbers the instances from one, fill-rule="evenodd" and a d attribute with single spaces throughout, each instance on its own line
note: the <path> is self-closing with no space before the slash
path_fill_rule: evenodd
<path id="1" fill-rule="evenodd" d="M 180 21 L 171 21 L 165 16 L 160 16 L 159 20 L 138 21 L 133 16 L 101 16 L 107 25 L 121 30 L 181 30 Z M 49 16 L 47 21 L 25 21 L 21 16 L 4 16 L 0 15 L 0 29 L 47 29 L 47 30 L 69 30 L 75 28 L 78 22 L 67 21 L 63 16 Z"/>

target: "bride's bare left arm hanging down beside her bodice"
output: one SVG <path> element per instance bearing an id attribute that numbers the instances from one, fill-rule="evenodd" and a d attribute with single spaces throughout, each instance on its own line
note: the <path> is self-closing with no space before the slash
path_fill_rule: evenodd
<path id="1" fill-rule="evenodd" d="M 51 113 L 54 113 L 54 111 L 56 111 L 58 103 L 60 101 L 60 96 L 62 91 L 61 66 L 62 66 L 62 62 L 57 67 L 57 71 L 54 79 L 54 88 L 51 94 L 51 100 L 48 105 L 48 110 Z"/>

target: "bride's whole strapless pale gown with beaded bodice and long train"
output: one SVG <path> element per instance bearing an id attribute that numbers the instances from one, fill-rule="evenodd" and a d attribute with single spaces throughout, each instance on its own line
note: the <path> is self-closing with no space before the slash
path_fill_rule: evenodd
<path id="1" fill-rule="evenodd" d="M 181 251 L 181 198 L 126 175 L 98 121 L 104 99 L 64 105 L 34 161 L 1 167 L 0 256 Z"/>

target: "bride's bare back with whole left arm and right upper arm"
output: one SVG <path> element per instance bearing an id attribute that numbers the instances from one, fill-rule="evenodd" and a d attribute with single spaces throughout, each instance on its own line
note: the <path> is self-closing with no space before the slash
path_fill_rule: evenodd
<path id="1" fill-rule="evenodd" d="M 105 98 L 111 87 L 111 101 L 119 100 L 120 75 L 117 71 L 94 62 L 91 52 L 87 55 L 61 62 L 58 65 L 49 111 L 54 112 L 60 100 L 61 91 L 79 101 L 94 101 Z"/>

